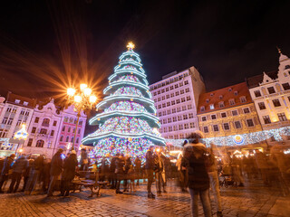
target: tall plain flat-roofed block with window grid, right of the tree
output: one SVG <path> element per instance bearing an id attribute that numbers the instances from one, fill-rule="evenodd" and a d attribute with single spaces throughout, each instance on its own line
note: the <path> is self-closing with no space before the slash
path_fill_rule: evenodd
<path id="1" fill-rule="evenodd" d="M 162 137 L 181 139 L 198 129 L 198 98 L 205 92 L 205 84 L 195 67 L 163 76 L 150 85 L 150 91 Z"/>

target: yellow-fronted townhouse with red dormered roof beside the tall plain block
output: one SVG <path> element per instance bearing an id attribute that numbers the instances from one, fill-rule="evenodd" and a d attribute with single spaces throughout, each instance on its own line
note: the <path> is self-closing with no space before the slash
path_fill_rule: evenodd
<path id="1" fill-rule="evenodd" d="M 235 139 L 239 143 L 241 135 L 262 130 L 246 82 L 201 94 L 198 121 L 205 137 L 223 137 L 216 139 L 219 146 L 235 144 Z"/>

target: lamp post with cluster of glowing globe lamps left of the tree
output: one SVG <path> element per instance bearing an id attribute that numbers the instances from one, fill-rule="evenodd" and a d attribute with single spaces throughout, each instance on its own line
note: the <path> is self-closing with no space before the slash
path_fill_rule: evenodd
<path id="1" fill-rule="evenodd" d="M 88 88 L 88 85 L 82 83 L 80 89 L 69 88 L 67 89 L 67 96 L 69 103 L 73 104 L 74 111 L 77 112 L 77 121 L 75 124 L 74 136 L 73 136 L 73 146 L 76 137 L 76 132 L 79 126 L 79 119 L 81 117 L 81 112 L 84 109 L 92 109 L 97 101 L 97 97 L 92 94 L 92 89 Z"/>

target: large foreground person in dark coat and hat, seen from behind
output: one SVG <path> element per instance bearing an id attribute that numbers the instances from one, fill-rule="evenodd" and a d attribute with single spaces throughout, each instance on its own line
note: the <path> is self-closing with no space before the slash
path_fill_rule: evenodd
<path id="1" fill-rule="evenodd" d="M 198 216 L 199 195 L 205 216 L 211 217 L 207 171 L 208 156 L 206 155 L 206 146 L 199 143 L 198 139 L 201 137 L 203 137 L 203 133 L 199 130 L 188 137 L 189 144 L 184 146 L 184 157 L 181 166 L 186 167 L 189 174 L 192 216 Z"/>

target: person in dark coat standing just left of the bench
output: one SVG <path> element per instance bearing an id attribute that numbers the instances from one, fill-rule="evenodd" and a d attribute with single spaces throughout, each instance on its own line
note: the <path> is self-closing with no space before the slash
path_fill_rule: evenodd
<path id="1" fill-rule="evenodd" d="M 69 196 L 70 184 L 75 175 L 75 168 L 78 166 L 78 160 L 76 159 L 76 152 L 73 150 L 71 155 L 64 160 L 63 175 L 61 184 L 61 196 Z"/>

